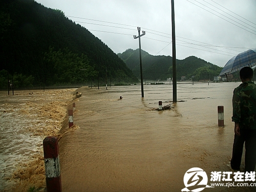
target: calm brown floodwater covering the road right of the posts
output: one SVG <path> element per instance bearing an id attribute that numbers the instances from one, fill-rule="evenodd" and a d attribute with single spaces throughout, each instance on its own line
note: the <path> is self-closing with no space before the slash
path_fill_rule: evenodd
<path id="1" fill-rule="evenodd" d="M 80 88 L 74 123 L 80 129 L 59 141 L 62 191 L 181 191 L 193 167 L 231 172 L 231 98 L 238 83 Z M 123 98 L 119 100 L 119 97 Z M 218 127 L 218 105 L 225 127 Z M 244 159 L 242 168 L 244 167 Z M 255 191 L 255 187 L 215 187 L 204 191 Z"/>

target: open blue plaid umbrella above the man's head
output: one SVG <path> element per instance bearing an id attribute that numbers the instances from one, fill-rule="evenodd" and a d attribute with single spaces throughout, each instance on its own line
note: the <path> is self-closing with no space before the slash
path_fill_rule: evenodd
<path id="1" fill-rule="evenodd" d="M 256 66 L 256 49 L 247 50 L 243 53 L 239 53 L 237 56 L 232 57 L 222 69 L 220 76 L 229 75 L 236 71 L 240 71 L 243 67 Z"/>

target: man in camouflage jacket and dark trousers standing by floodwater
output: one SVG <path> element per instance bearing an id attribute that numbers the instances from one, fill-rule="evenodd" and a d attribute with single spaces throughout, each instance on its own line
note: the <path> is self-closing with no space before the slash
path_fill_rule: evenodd
<path id="1" fill-rule="evenodd" d="M 239 170 L 245 143 L 245 170 L 253 172 L 256 164 L 256 85 L 251 81 L 253 70 L 244 67 L 240 71 L 242 84 L 234 89 L 232 105 L 234 121 L 233 169 Z"/>

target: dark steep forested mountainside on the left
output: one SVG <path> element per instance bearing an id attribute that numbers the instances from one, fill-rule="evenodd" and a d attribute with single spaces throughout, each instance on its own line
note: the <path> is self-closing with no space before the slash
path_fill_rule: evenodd
<path id="1" fill-rule="evenodd" d="M 33 0 L 0 1 L 0 88 L 82 84 L 91 79 L 136 82 L 125 63 L 60 10 Z M 80 70 L 86 69 L 86 70 Z"/>

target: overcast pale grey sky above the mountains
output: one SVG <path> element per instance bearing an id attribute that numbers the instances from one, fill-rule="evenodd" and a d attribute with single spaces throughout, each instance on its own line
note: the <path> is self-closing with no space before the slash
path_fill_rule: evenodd
<path id="1" fill-rule="evenodd" d="M 172 56 L 170 0 L 35 0 L 87 28 L 115 53 L 141 49 Z M 194 55 L 224 67 L 234 55 L 256 49 L 255 0 L 174 0 L 176 58 Z M 79 18 L 78 18 L 79 17 Z"/>

